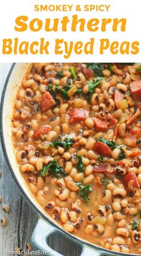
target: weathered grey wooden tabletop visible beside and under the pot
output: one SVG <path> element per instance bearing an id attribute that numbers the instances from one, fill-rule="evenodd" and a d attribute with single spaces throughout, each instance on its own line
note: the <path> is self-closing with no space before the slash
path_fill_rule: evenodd
<path id="1" fill-rule="evenodd" d="M 0 95 L 4 88 L 4 82 L 10 70 L 11 64 L 0 63 Z M 27 204 L 19 189 L 14 183 L 13 177 L 8 170 L 7 164 L 0 148 L 0 218 L 7 218 L 7 227 L 0 225 L 0 250 L 13 251 L 16 248 L 26 248 L 26 243 L 30 242 L 32 231 L 38 220 L 36 212 Z M 2 205 L 10 205 L 10 213 L 2 210 Z M 80 254 L 79 246 L 66 240 L 64 237 L 54 235 L 48 241 L 51 248 L 56 249 L 65 256 L 78 256 Z M 4 254 L 6 256 L 6 254 Z"/>

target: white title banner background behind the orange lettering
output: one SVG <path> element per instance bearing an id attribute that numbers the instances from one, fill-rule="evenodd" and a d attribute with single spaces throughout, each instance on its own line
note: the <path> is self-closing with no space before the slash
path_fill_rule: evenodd
<path id="1" fill-rule="evenodd" d="M 76 4 L 81 4 L 81 7 L 84 4 L 111 4 L 108 12 L 76 12 L 73 8 L 72 12 L 36 12 L 34 11 L 35 4 L 73 4 L 74 7 Z M 0 7 L 0 59 L 1 62 L 140 62 L 141 61 L 141 15 L 140 15 L 140 0 L 5 0 L 1 1 Z M 93 18 L 103 19 L 103 18 L 125 18 L 127 19 L 126 32 L 113 32 L 112 25 L 109 25 L 106 32 L 88 32 L 87 29 L 85 32 L 71 32 L 68 29 L 68 32 L 45 32 L 44 28 L 39 32 L 32 32 L 29 29 L 25 32 L 16 32 L 14 31 L 15 19 L 17 16 L 28 16 L 29 21 L 33 18 L 39 18 L 43 21 L 47 18 L 62 18 L 63 16 L 68 16 L 69 18 L 73 14 L 78 14 L 79 18 L 85 18 L 85 20 L 90 20 Z M 29 22 L 27 22 L 29 24 Z M 69 26 L 68 26 L 69 28 Z M 16 38 L 19 37 L 19 41 L 39 41 L 39 38 L 44 37 L 45 40 L 50 41 L 50 55 L 32 55 L 29 53 L 28 55 L 2 55 L 2 39 L 3 38 Z M 54 41 L 56 38 L 64 38 L 66 41 L 83 41 L 86 43 L 90 40 L 91 37 L 95 38 L 94 45 L 94 54 L 93 55 L 85 55 L 82 53 L 81 55 L 76 55 L 72 52 L 72 55 L 69 59 L 65 59 L 63 55 L 55 55 L 54 53 Z M 100 55 L 99 46 L 100 39 L 108 38 L 112 41 L 139 41 L 140 42 L 140 52 L 137 55 L 112 55 L 110 50 L 106 50 L 104 55 Z M 62 50 L 64 50 L 62 44 Z"/>

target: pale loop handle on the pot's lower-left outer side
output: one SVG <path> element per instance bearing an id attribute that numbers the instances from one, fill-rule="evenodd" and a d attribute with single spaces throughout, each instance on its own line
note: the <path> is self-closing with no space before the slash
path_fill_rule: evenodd
<path id="1" fill-rule="evenodd" d="M 62 254 L 59 254 L 59 252 L 54 251 L 50 248 L 50 246 L 47 243 L 47 239 L 51 234 L 54 234 L 56 232 L 59 232 L 56 228 L 54 228 L 52 225 L 50 225 L 48 222 L 44 221 L 44 219 L 39 218 L 38 223 L 36 224 L 35 230 L 33 231 L 31 242 L 32 246 L 36 251 L 40 251 L 40 253 L 45 252 L 44 255 L 50 255 L 50 256 L 63 256 Z M 75 242 L 75 240 L 73 240 Z M 79 243 L 78 243 L 79 244 Z M 103 255 L 103 252 L 100 250 L 96 250 L 94 248 L 90 248 L 89 246 L 79 244 L 82 248 L 82 252 L 80 256 L 100 256 Z M 42 254 L 40 254 L 42 255 Z M 111 254 L 109 254 L 111 255 Z M 112 256 L 114 256 L 112 254 Z"/>

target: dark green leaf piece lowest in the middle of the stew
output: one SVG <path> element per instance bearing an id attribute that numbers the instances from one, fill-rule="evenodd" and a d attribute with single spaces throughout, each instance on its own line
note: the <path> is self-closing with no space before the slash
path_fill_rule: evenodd
<path id="1" fill-rule="evenodd" d="M 83 186 L 81 183 L 76 183 L 76 185 L 79 188 L 78 195 L 79 197 L 83 198 L 86 203 L 90 201 L 89 192 L 91 192 L 93 189 L 90 188 L 90 185 Z"/>

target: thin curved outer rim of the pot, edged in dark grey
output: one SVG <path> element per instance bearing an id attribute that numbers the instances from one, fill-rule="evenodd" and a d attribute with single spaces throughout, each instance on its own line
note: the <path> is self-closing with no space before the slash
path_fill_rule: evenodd
<path id="1" fill-rule="evenodd" d="M 140 254 L 126 254 L 124 252 L 116 252 L 116 251 L 112 251 L 109 249 L 105 249 L 101 246 L 98 245 L 94 245 L 93 243 L 88 242 L 87 240 L 81 239 L 80 237 L 74 236 L 73 234 L 68 233 L 67 231 L 63 230 L 62 227 L 60 227 L 59 225 L 57 225 L 56 223 L 53 222 L 53 220 L 51 220 L 50 218 L 48 218 L 48 216 L 45 216 L 44 213 L 38 209 L 38 207 L 36 206 L 36 203 L 33 203 L 32 200 L 30 200 L 30 198 L 27 196 L 26 192 L 24 191 L 24 189 L 22 188 L 22 185 L 20 185 L 19 181 L 17 180 L 16 174 L 13 171 L 13 167 L 11 166 L 11 162 L 10 159 L 8 157 L 8 153 L 7 153 L 7 149 L 5 146 L 5 140 L 4 140 L 4 129 L 3 129 L 3 113 L 4 113 L 4 100 L 5 100 L 5 93 L 7 91 L 7 86 L 8 86 L 8 82 L 10 80 L 11 74 L 13 73 L 14 67 L 16 67 L 17 63 L 13 63 L 10 71 L 8 73 L 7 79 L 5 80 L 4 83 L 4 88 L 2 90 L 2 95 L 1 95 L 1 106 L 0 106 L 0 133 L 1 133 L 1 144 L 2 144 L 2 150 L 4 152 L 4 156 L 5 156 L 5 160 L 7 162 L 8 168 L 11 172 L 11 175 L 13 176 L 14 182 L 16 182 L 16 185 L 18 186 L 22 196 L 26 199 L 27 203 L 30 204 L 30 206 L 32 206 L 33 209 L 36 210 L 36 212 L 38 213 L 39 216 L 41 216 L 45 221 L 49 222 L 51 225 L 53 225 L 53 227 L 55 227 L 57 230 L 59 230 L 61 233 L 65 234 L 65 236 L 67 236 L 68 238 L 70 238 L 71 240 L 73 240 L 73 242 L 76 241 L 76 243 L 78 243 L 78 245 L 81 246 L 82 243 L 84 243 L 84 245 L 90 246 L 91 248 L 96 249 L 97 251 L 101 251 L 103 253 L 107 253 L 109 255 L 112 255 L 113 253 L 115 255 L 131 255 L 131 256 L 137 256 Z"/>

